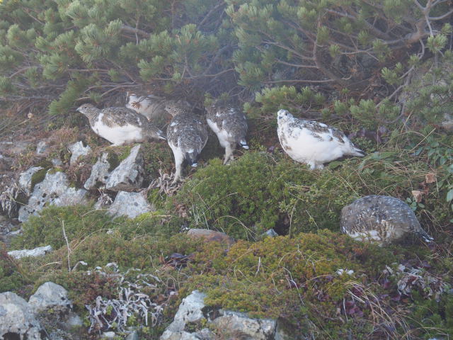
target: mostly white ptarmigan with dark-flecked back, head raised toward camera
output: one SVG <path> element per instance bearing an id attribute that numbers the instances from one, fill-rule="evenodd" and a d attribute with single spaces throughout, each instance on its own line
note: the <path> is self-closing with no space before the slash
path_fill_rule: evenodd
<path id="1" fill-rule="evenodd" d="M 324 163 L 343 156 L 364 156 L 343 132 L 326 124 L 295 118 L 286 110 L 278 111 L 277 124 L 282 148 L 310 169 L 323 169 Z"/>

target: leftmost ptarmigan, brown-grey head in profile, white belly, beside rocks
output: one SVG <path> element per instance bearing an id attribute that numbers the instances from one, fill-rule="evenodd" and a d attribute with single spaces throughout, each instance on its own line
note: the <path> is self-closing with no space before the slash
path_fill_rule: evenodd
<path id="1" fill-rule="evenodd" d="M 103 108 L 84 104 L 77 111 L 86 115 L 91 129 L 113 146 L 126 142 L 143 142 L 149 138 L 165 140 L 164 132 L 144 116 L 129 108 Z"/>

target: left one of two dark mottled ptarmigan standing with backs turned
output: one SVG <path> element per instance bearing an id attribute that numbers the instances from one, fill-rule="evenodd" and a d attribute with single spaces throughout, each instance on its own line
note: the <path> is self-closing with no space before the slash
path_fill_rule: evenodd
<path id="1" fill-rule="evenodd" d="M 168 101 L 165 110 L 173 118 L 167 126 L 167 142 L 175 157 L 176 183 L 181 178 L 181 165 L 184 159 L 191 165 L 197 166 L 197 158 L 207 142 L 206 124 L 197 118 L 190 108 L 180 103 Z"/>

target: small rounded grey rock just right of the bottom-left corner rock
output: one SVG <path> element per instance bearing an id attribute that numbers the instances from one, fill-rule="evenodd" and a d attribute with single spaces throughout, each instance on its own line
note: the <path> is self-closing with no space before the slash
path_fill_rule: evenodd
<path id="1" fill-rule="evenodd" d="M 30 296 L 28 305 L 35 312 L 44 312 L 48 308 L 69 312 L 72 302 L 68 298 L 68 292 L 61 285 L 53 282 L 46 282 L 40 285 L 36 293 Z"/>

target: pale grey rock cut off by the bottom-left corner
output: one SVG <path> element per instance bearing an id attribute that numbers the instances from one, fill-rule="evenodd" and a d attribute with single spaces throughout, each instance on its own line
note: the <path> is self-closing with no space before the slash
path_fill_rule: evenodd
<path id="1" fill-rule="evenodd" d="M 45 339 L 30 305 L 14 293 L 0 294 L 0 320 L 1 339 Z"/>

